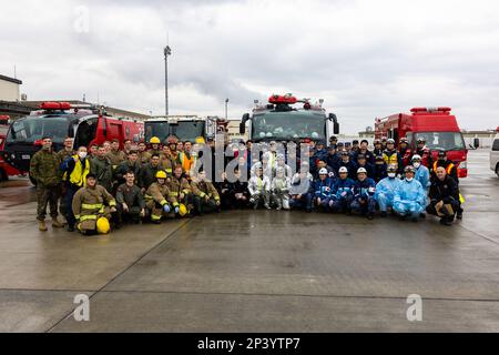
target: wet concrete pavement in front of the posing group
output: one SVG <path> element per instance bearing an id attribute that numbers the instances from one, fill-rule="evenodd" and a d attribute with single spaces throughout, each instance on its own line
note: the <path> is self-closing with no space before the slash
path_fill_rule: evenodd
<path id="1" fill-rule="evenodd" d="M 39 232 L 33 187 L 1 183 L 0 332 L 498 332 L 499 179 L 487 151 L 469 169 L 452 227 L 237 211 L 85 239 Z"/>

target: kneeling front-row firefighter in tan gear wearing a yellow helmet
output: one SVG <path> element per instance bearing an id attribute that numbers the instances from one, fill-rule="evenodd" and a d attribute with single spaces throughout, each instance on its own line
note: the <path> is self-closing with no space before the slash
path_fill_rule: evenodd
<path id="1" fill-rule="evenodd" d="M 153 182 L 145 192 L 145 206 L 150 211 L 151 221 L 160 224 L 163 216 L 172 212 L 172 205 L 169 203 L 170 189 L 166 184 L 166 173 L 160 170 L 156 173 L 156 182 Z"/>

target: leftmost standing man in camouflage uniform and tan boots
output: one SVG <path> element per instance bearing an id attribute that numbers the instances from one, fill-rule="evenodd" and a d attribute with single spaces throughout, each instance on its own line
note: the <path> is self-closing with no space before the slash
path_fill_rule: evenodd
<path id="1" fill-rule="evenodd" d="M 60 160 L 52 151 L 52 139 L 42 139 L 42 149 L 30 161 L 30 178 L 37 181 L 37 220 L 40 231 L 45 232 L 47 205 L 50 206 L 52 227 L 62 227 L 58 221 L 58 200 L 60 194 L 61 175 L 59 172 Z"/>

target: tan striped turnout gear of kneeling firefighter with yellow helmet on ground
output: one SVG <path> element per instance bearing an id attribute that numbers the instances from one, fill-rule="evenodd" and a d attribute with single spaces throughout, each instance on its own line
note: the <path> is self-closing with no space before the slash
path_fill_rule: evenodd
<path id="1" fill-rule="evenodd" d="M 81 187 L 73 196 L 73 213 L 77 219 L 77 227 L 80 232 L 95 231 L 96 221 L 100 217 L 111 219 L 109 207 L 115 207 L 116 201 L 101 185 L 94 187 Z"/>

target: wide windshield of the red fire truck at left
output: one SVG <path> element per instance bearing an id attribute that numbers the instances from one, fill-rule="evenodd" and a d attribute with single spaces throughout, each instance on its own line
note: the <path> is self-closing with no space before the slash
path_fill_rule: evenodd
<path id="1" fill-rule="evenodd" d="M 55 143 L 62 143 L 69 133 L 69 122 L 72 115 L 27 116 L 12 123 L 6 144 L 32 144 L 43 136 L 52 138 Z"/>

